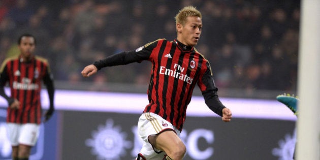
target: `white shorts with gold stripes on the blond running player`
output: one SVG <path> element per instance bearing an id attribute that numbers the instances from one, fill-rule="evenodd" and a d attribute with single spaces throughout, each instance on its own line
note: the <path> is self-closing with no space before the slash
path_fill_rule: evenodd
<path id="1" fill-rule="evenodd" d="M 167 130 L 175 131 L 178 136 L 180 135 L 180 131 L 161 116 L 149 112 L 143 113 L 138 121 L 138 133 L 143 140 L 140 156 L 148 160 L 163 160 L 166 153 L 153 148 L 148 137 Z"/>

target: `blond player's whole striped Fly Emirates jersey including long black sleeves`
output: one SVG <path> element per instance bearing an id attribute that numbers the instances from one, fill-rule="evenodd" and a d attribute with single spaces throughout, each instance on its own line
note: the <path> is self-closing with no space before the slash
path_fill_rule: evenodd
<path id="1" fill-rule="evenodd" d="M 152 63 L 148 88 L 149 104 L 143 112 L 152 112 L 171 122 L 182 130 L 187 105 L 196 84 L 200 87 L 207 106 L 222 115 L 225 108 L 218 100 L 211 68 L 194 47 L 178 42 L 159 39 L 135 51 L 126 51 L 96 61 L 94 66 L 125 65 L 131 62 L 149 60 Z"/>

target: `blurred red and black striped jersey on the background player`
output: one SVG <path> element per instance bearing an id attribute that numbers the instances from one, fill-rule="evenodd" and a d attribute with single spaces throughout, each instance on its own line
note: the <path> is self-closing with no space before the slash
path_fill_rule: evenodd
<path id="1" fill-rule="evenodd" d="M 0 70 L 0 84 L 9 82 L 11 100 L 20 102 L 19 109 L 7 109 L 7 122 L 37 123 L 41 122 L 41 83 L 50 81 L 50 70 L 46 59 L 34 56 L 29 61 L 23 61 L 21 56 L 7 58 Z M 7 100 L 9 102 L 9 100 Z M 50 100 L 51 101 L 51 100 Z"/>

